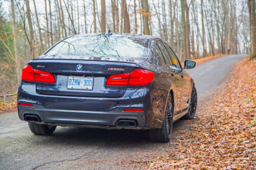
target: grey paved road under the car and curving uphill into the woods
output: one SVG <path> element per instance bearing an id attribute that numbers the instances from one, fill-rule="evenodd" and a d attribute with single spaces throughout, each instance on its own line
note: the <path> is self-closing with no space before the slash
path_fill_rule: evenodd
<path id="1" fill-rule="evenodd" d="M 232 65 L 244 57 L 229 55 L 188 70 L 199 100 L 221 86 Z M 173 135 L 189 130 L 184 121 L 191 120 L 176 122 Z M 145 131 L 78 127 L 57 127 L 52 136 L 35 136 L 17 112 L 0 114 L 0 169 L 124 169 L 127 158 L 167 155 L 172 142 L 153 143 Z"/>

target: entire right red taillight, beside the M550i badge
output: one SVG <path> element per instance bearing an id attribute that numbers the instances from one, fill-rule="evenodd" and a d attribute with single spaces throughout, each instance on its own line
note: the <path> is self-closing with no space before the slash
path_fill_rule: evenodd
<path id="1" fill-rule="evenodd" d="M 106 80 L 106 85 L 147 85 L 154 80 L 155 74 L 152 71 L 143 69 L 135 69 L 130 73 L 112 75 Z"/>

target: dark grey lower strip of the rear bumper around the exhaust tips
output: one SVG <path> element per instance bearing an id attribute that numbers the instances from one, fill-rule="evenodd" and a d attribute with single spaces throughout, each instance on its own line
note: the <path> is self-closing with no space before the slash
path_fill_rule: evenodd
<path id="1" fill-rule="evenodd" d="M 41 123 L 53 125 L 74 126 L 110 126 L 116 127 L 119 120 L 135 120 L 138 127 L 144 127 L 146 123 L 144 111 L 123 111 L 114 109 L 109 112 L 77 111 L 47 109 L 33 104 L 33 107 L 18 106 L 19 118 L 24 120 L 25 115 L 37 115 Z M 136 127 L 136 128 L 138 128 Z"/>

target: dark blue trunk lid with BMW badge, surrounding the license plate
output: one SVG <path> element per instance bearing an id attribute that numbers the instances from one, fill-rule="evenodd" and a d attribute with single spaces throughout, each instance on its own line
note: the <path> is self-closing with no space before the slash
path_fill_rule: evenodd
<path id="1" fill-rule="evenodd" d="M 33 69 L 54 74 L 55 83 L 36 82 L 36 91 L 41 94 L 118 98 L 124 95 L 127 86 L 106 86 L 111 75 L 132 72 L 134 62 L 70 59 L 35 59 L 29 62 Z M 79 65 L 79 66 L 78 66 Z M 77 69 L 77 66 L 81 70 Z M 69 76 L 93 77 L 92 90 L 69 89 Z"/>

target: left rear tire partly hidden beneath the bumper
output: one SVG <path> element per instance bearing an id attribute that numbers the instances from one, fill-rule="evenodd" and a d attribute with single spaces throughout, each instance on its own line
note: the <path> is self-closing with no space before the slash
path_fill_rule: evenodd
<path id="1" fill-rule="evenodd" d="M 51 125 L 42 125 L 32 122 L 29 122 L 28 124 L 30 131 L 35 135 L 51 135 L 56 129 L 56 126 Z"/>

